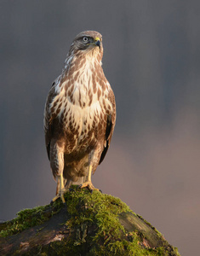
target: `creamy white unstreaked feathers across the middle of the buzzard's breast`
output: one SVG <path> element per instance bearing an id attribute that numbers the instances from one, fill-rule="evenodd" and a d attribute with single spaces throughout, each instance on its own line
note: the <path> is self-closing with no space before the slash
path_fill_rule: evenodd
<path id="1" fill-rule="evenodd" d="M 89 90 L 93 91 L 91 65 L 93 66 L 93 64 L 89 63 L 89 61 L 86 61 L 86 64 L 81 69 L 78 70 L 78 72 L 80 72 L 81 75 L 78 78 L 78 80 L 75 81 L 75 84 L 74 84 L 75 88 L 74 88 L 74 91 L 72 92 L 75 104 L 71 103 L 69 98 L 66 98 L 65 90 L 61 90 L 61 88 L 66 85 L 66 82 L 64 82 L 60 86 L 60 77 L 56 79 L 57 84 L 55 87 L 55 91 L 58 93 L 58 95 L 54 97 L 54 101 L 51 103 L 51 106 L 53 106 L 55 101 L 57 101 L 60 97 L 62 98 L 59 117 L 61 116 L 61 113 L 63 113 L 63 111 L 66 108 L 67 119 L 71 115 L 72 119 L 75 120 L 75 124 L 74 124 L 75 127 L 79 125 L 79 132 L 78 132 L 79 139 L 82 139 L 84 137 L 84 135 L 81 135 L 81 133 L 82 131 L 88 130 L 88 125 L 92 127 L 94 115 L 99 115 L 100 112 L 103 111 L 102 96 L 100 96 L 100 99 L 98 100 L 97 92 L 95 94 L 93 93 L 93 100 L 89 106 L 90 99 L 89 99 L 88 91 Z M 98 87 L 98 84 L 97 84 L 97 87 Z M 104 99 L 106 101 L 106 106 L 110 105 L 110 107 L 112 108 L 111 102 L 109 102 L 107 99 L 107 95 L 108 95 L 107 89 L 109 87 L 110 87 L 110 84 L 107 82 L 106 90 L 104 91 L 104 96 L 105 96 Z M 84 103 L 84 106 L 85 106 L 84 108 L 81 108 L 79 104 L 80 94 L 81 94 L 81 103 L 82 105 Z M 59 104 L 57 104 L 57 107 L 58 105 Z M 56 110 L 57 108 L 54 109 L 54 112 L 56 112 Z M 86 125 L 84 125 L 85 121 L 86 121 Z"/>

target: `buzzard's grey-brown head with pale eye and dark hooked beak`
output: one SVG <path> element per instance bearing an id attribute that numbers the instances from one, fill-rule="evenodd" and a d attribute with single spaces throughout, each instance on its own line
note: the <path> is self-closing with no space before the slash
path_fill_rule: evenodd
<path id="1" fill-rule="evenodd" d="M 71 44 L 71 52 L 89 53 L 95 52 L 103 55 L 102 36 L 99 32 L 80 32 Z"/>

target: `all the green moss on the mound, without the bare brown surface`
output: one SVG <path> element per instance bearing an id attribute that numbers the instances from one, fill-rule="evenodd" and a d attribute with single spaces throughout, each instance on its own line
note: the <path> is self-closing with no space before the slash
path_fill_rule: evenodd
<path id="1" fill-rule="evenodd" d="M 69 230 L 69 236 L 62 241 L 49 242 L 43 247 L 38 245 L 25 255 L 179 255 L 174 247 L 164 241 L 162 234 L 139 215 L 134 214 L 134 218 L 140 218 L 140 221 L 144 221 L 157 233 L 155 236 L 161 240 L 162 247 L 149 247 L 148 243 L 146 244 L 146 237 L 139 230 L 125 230 L 119 215 L 123 218 L 122 213 L 132 211 L 116 197 L 101 194 L 96 190 L 90 193 L 88 189 L 71 186 L 71 191 L 66 193 L 65 199 L 66 223 L 62 225 Z M 0 236 L 10 236 L 42 224 L 61 208 L 63 204 L 57 200 L 53 206 L 21 211 L 18 217 L 8 224 L 7 230 L 0 232 Z"/>

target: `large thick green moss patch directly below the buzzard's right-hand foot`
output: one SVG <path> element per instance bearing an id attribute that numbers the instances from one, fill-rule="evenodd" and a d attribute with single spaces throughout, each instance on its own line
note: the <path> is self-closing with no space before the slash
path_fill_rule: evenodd
<path id="1" fill-rule="evenodd" d="M 74 191 L 66 194 L 66 201 L 69 206 L 67 210 L 71 215 L 66 225 L 71 230 L 76 230 L 75 237 L 71 237 L 68 244 L 70 249 L 75 249 L 71 255 L 83 253 L 85 243 L 93 246 L 83 255 L 169 255 L 164 253 L 163 247 L 145 247 L 139 232 L 134 232 L 130 236 L 124 230 L 118 215 L 132 211 L 120 199 L 95 190 L 91 194 L 88 189 L 78 189 L 77 193 L 74 187 Z M 83 236 L 87 233 L 84 230 L 93 224 L 95 228 L 92 236 Z M 162 236 L 158 231 L 157 234 Z"/>

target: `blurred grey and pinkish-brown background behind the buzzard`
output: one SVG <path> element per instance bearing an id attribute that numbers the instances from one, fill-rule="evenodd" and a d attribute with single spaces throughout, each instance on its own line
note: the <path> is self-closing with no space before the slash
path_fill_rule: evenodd
<path id="1" fill-rule="evenodd" d="M 103 35 L 117 102 L 94 186 L 197 255 L 200 228 L 199 1 L 0 1 L 0 219 L 48 204 L 56 183 L 43 108 L 71 41 Z"/>

